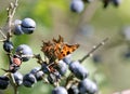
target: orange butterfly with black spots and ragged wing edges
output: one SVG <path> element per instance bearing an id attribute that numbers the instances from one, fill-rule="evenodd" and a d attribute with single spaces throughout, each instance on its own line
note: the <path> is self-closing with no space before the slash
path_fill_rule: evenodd
<path id="1" fill-rule="evenodd" d="M 79 44 L 70 45 L 65 43 L 61 36 L 58 36 L 57 40 L 53 38 L 52 41 L 42 42 L 41 51 L 51 62 L 55 62 L 55 59 L 61 61 L 79 48 Z"/>

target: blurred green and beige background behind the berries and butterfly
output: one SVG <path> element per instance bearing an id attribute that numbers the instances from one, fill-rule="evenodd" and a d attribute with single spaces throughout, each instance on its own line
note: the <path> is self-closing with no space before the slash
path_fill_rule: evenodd
<path id="1" fill-rule="evenodd" d="M 14 0 L 0 0 L 0 27 L 5 24 L 9 3 Z M 40 51 L 42 40 L 48 41 L 61 35 L 68 43 L 79 43 L 80 48 L 73 54 L 73 59 L 80 59 L 93 45 L 108 37 L 108 42 L 94 52 L 100 61 L 89 57 L 83 65 L 90 71 L 90 78 L 98 81 L 100 94 L 112 94 L 130 88 L 130 53 L 129 41 L 122 35 L 126 27 L 130 27 L 130 0 L 122 0 L 116 8 L 109 4 L 103 9 L 101 0 L 86 3 L 82 13 L 69 10 L 70 0 L 20 0 L 14 19 L 30 17 L 36 21 L 37 28 L 32 35 L 14 36 L 15 48 L 26 43 L 34 53 Z M 129 29 L 130 30 L 130 29 Z M 129 31 L 130 32 L 130 31 Z M 129 33 L 130 36 L 130 33 Z M 8 67 L 5 53 L 0 43 L 0 68 Z M 23 63 L 20 71 L 25 75 L 31 68 L 39 66 L 36 59 Z M 4 72 L 0 70 L 0 75 Z M 52 86 L 38 82 L 34 88 L 21 86 L 20 94 L 51 94 Z M 0 94 L 13 94 L 10 86 Z"/>

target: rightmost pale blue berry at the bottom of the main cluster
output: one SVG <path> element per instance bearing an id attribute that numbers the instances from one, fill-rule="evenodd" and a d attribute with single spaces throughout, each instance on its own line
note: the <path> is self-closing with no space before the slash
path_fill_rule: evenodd
<path id="1" fill-rule="evenodd" d="M 98 92 L 98 86 L 90 79 L 84 79 L 78 84 L 80 94 L 95 94 Z"/>

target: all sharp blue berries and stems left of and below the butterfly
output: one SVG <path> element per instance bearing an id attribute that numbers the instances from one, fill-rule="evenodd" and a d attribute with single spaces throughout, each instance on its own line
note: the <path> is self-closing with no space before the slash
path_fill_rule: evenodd
<path id="1" fill-rule="evenodd" d="M 31 18 L 23 21 L 16 19 L 13 24 L 11 32 L 20 36 L 23 33 L 32 33 L 36 28 L 36 23 Z M 80 61 L 72 61 L 67 55 L 63 59 L 50 63 L 51 61 L 43 61 L 40 54 L 35 55 L 32 50 L 27 44 L 21 44 L 13 53 L 14 45 L 10 38 L 3 40 L 3 50 L 9 56 L 9 69 L 3 76 L 0 76 L 0 89 L 5 90 L 9 84 L 13 84 L 14 89 L 21 85 L 32 88 L 37 81 L 43 80 L 46 83 L 53 84 L 55 88 L 52 94 L 94 94 L 98 92 L 96 84 L 88 79 L 88 70 L 81 65 Z M 22 75 L 18 69 L 23 62 L 28 62 L 30 58 L 37 58 L 37 63 L 41 67 L 35 67 L 30 72 Z M 66 76 L 69 71 L 70 75 Z M 65 84 L 62 83 L 65 81 Z M 62 85 L 63 84 L 63 85 Z"/>

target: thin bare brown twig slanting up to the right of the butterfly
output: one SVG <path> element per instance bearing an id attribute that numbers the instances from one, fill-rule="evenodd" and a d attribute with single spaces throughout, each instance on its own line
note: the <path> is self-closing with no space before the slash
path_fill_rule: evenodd
<path id="1" fill-rule="evenodd" d="M 94 46 L 92 48 L 92 50 L 91 50 L 87 55 L 84 55 L 81 59 L 79 59 L 79 62 L 82 63 L 86 58 L 92 56 L 93 52 L 94 52 L 95 50 L 98 50 L 100 46 L 104 45 L 107 40 L 108 40 L 108 38 L 105 38 L 105 39 L 104 39 L 102 42 L 100 42 L 98 45 L 94 45 Z"/>

